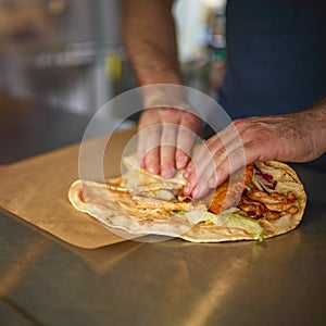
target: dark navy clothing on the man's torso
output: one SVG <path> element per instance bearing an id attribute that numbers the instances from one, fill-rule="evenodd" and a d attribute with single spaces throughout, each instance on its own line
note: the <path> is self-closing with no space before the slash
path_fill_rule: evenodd
<path id="1" fill-rule="evenodd" d="M 228 0 L 226 38 L 218 101 L 233 120 L 293 112 L 326 95 L 325 0 Z"/>

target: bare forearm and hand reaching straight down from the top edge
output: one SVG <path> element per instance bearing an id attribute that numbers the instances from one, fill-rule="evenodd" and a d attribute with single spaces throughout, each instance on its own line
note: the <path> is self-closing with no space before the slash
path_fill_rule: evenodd
<path id="1" fill-rule="evenodd" d="M 140 86 L 183 85 L 172 14 L 173 2 L 123 1 L 124 45 Z M 183 95 L 175 95 L 168 87 L 167 90 L 165 93 L 165 87 L 163 90 L 162 87 L 149 88 L 143 95 L 143 104 L 145 108 L 154 109 L 143 110 L 139 123 L 138 150 L 141 166 L 150 173 L 162 174 L 163 177 L 173 176 L 175 167 L 187 166 L 195 136 L 202 129 L 201 121 L 196 115 L 168 109 L 179 108 L 173 104 L 185 101 Z M 163 104 L 165 108 L 161 106 Z"/>

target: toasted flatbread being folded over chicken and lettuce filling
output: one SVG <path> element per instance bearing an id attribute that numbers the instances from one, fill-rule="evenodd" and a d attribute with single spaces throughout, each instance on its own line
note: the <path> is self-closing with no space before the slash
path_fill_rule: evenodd
<path id="1" fill-rule="evenodd" d="M 128 183 L 125 178 L 128 176 L 127 172 L 122 178 L 109 180 L 116 189 L 108 188 L 104 184 L 76 180 L 68 191 L 70 201 L 76 210 L 93 216 L 111 231 L 124 231 L 130 238 L 160 235 L 193 242 L 253 240 L 288 233 L 299 225 L 306 204 L 306 195 L 296 172 L 287 164 L 275 161 L 254 163 L 253 177 L 247 190 L 254 189 L 258 192 L 266 192 L 267 196 L 279 193 L 284 198 L 287 193 L 292 193 L 296 200 L 290 202 L 290 206 L 294 213 L 280 212 L 278 214 L 283 216 L 276 220 L 265 216 L 258 220 L 248 218 L 239 215 L 239 209 L 236 206 L 213 214 L 202 202 L 189 203 L 189 200 L 186 200 L 186 209 L 183 206 L 179 211 L 172 206 L 173 210 L 168 210 L 164 208 L 168 206 L 168 201 L 145 196 L 151 189 L 147 187 L 158 189 L 166 183 L 165 186 L 170 189 L 181 188 L 185 181 L 179 176 L 165 181 L 154 176 L 156 181 L 153 181 L 153 176 L 147 176 L 143 171 L 140 175 L 142 183 L 147 180 L 140 193 L 137 192 L 139 184 L 133 178 L 129 178 L 129 181 L 134 183 L 134 188 L 130 186 L 128 191 L 125 190 Z"/>

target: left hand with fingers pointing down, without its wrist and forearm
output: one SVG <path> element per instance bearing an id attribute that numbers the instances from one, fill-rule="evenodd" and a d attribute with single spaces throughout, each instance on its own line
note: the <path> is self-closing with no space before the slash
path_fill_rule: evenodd
<path id="1" fill-rule="evenodd" d="M 141 167 L 164 178 L 185 168 L 202 122 L 193 113 L 171 108 L 146 109 L 139 122 L 138 153 Z"/>

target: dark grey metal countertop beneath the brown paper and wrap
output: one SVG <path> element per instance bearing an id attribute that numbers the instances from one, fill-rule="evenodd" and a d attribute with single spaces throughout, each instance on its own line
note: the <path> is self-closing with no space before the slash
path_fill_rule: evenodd
<path id="1" fill-rule="evenodd" d="M 0 103 L 2 117 L 12 112 L 2 163 L 78 141 L 88 121 L 29 105 L 28 122 L 24 102 Z M 84 250 L 0 211 L 0 324 L 325 325 L 326 173 L 296 168 L 309 196 L 304 220 L 262 244 L 173 239 Z"/>

